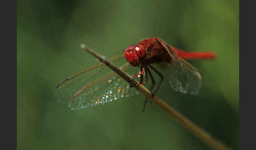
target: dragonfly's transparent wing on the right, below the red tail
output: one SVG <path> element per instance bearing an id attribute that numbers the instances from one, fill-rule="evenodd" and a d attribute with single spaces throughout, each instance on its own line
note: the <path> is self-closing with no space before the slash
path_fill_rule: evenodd
<path id="1" fill-rule="evenodd" d="M 167 47 L 172 57 L 169 76 L 171 87 L 178 92 L 199 94 L 202 88 L 202 76 L 199 71 L 182 59 L 169 45 Z"/>

